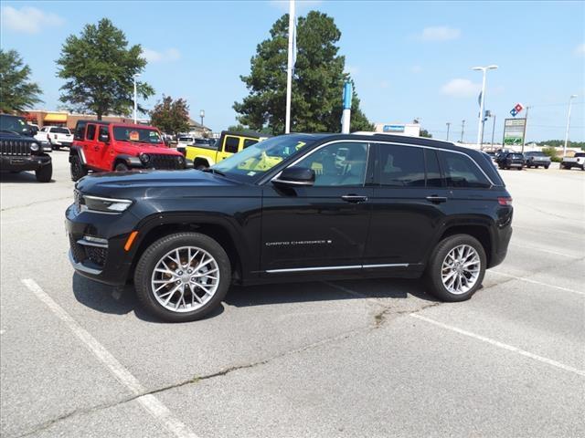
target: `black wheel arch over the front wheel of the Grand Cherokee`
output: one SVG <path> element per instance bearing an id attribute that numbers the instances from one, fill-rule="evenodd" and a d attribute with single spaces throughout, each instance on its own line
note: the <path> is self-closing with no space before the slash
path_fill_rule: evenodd
<path id="1" fill-rule="evenodd" d="M 141 220 L 136 226 L 135 231 L 138 231 L 136 241 L 130 251 L 130 256 L 133 264 L 137 262 L 136 255 L 138 249 L 144 243 L 148 234 L 154 230 L 155 227 L 161 225 L 218 225 L 228 231 L 229 238 L 233 242 L 236 249 L 239 265 L 241 266 L 241 273 L 243 279 L 254 276 L 252 271 L 258 271 L 258 263 L 254 266 L 252 260 L 252 253 L 250 248 L 245 244 L 241 236 L 242 231 L 238 231 L 238 224 L 234 224 L 229 217 L 222 214 L 213 214 L 209 212 L 193 213 L 193 212 L 173 212 L 167 214 L 151 214 Z"/>

